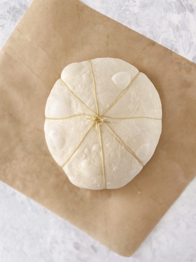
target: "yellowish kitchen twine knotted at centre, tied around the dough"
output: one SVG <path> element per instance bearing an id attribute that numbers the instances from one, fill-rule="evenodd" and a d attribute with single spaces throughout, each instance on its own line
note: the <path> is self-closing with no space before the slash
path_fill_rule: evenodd
<path id="1" fill-rule="evenodd" d="M 102 156 L 102 169 L 103 169 L 103 182 L 104 182 L 104 189 L 106 189 L 106 179 L 105 179 L 105 170 L 104 170 L 104 157 L 103 157 L 103 148 L 102 148 L 102 140 L 101 140 L 101 130 L 100 130 L 100 124 L 104 124 L 108 130 L 114 135 L 114 137 L 116 137 L 116 139 L 124 146 L 124 148 L 126 148 L 132 156 L 135 157 L 135 159 L 137 159 L 137 161 L 142 165 L 141 160 L 134 154 L 134 152 L 132 152 L 124 143 L 122 140 L 120 140 L 120 138 L 117 137 L 117 135 L 111 130 L 111 128 L 108 127 L 108 125 L 106 123 L 111 123 L 110 121 L 104 121 L 105 117 L 108 118 L 112 118 L 112 119 L 132 119 L 132 118 L 149 118 L 149 119 L 155 119 L 155 120 L 162 120 L 162 118 L 153 118 L 153 117 L 144 117 L 144 116 L 137 116 L 137 117 L 110 117 L 110 116 L 104 116 L 103 114 L 109 109 L 111 108 L 117 101 L 118 99 L 124 94 L 124 92 L 131 86 L 131 84 L 136 80 L 136 78 L 138 77 L 138 75 L 140 74 L 140 72 L 137 73 L 137 75 L 131 80 L 131 82 L 128 84 L 128 86 L 120 93 L 120 95 L 111 103 L 111 105 L 109 107 L 106 108 L 105 111 L 103 111 L 100 115 L 99 115 L 99 111 L 98 111 L 98 105 L 97 105 L 97 97 L 96 97 L 96 87 L 95 87 L 95 79 L 94 79 L 94 73 L 93 73 L 93 68 L 92 68 L 92 64 L 91 61 L 88 60 L 89 64 L 90 64 L 90 70 L 91 70 L 91 75 L 93 78 L 93 86 L 94 86 L 94 97 L 95 97 L 95 105 L 96 105 L 96 110 L 97 113 L 95 113 L 93 110 L 91 110 L 87 105 L 85 105 L 84 102 L 82 102 L 74 93 L 73 91 L 66 85 L 66 83 L 61 79 L 62 83 L 66 86 L 66 88 L 72 93 L 73 96 L 75 96 L 77 98 L 77 100 L 82 103 L 82 105 L 84 105 L 85 107 L 88 108 L 88 110 L 90 110 L 93 114 L 95 114 L 95 116 L 91 116 L 88 114 L 73 114 L 67 117 L 59 117 L 59 118 L 50 118 L 50 117 L 46 117 L 46 119 L 52 119 L 52 120 L 60 120 L 60 119 L 66 119 L 66 118 L 70 118 L 70 117 L 74 117 L 74 116 L 88 116 L 89 118 L 86 119 L 92 119 L 92 123 L 89 126 L 87 132 L 84 134 L 82 140 L 80 141 L 80 143 L 78 144 L 77 148 L 72 152 L 71 156 L 67 159 L 67 161 L 62 165 L 62 167 L 64 167 L 67 162 L 70 160 L 70 158 L 73 156 L 73 154 L 76 152 L 76 150 L 79 148 L 80 144 L 82 143 L 82 141 L 84 140 L 84 138 L 86 137 L 86 135 L 88 134 L 88 132 L 90 131 L 90 129 L 92 127 L 94 127 L 94 125 L 96 126 L 96 130 L 98 127 L 99 130 L 99 140 L 100 140 L 100 148 L 101 148 L 101 156 Z M 104 117 L 104 118 L 101 118 Z"/>

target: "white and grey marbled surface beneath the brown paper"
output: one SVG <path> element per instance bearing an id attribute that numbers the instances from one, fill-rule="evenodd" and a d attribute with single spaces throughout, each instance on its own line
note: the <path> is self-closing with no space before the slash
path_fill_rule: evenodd
<path id="1" fill-rule="evenodd" d="M 196 62 L 195 0 L 83 0 L 97 11 Z M 0 47 L 31 0 L 0 0 Z M 1 262 L 194 262 L 196 179 L 131 258 L 119 256 L 78 228 L 0 182 Z"/>

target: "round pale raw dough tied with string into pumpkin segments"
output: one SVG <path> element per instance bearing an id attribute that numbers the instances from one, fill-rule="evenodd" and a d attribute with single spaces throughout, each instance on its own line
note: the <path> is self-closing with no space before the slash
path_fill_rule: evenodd
<path id="1" fill-rule="evenodd" d="M 96 58 L 67 65 L 45 108 L 45 138 L 70 181 L 127 184 L 152 157 L 162 128 L 157 90 L 133 65 Z"/>

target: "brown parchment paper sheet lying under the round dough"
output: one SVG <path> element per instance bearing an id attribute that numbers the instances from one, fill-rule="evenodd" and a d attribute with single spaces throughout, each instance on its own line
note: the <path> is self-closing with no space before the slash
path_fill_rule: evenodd
<path id="1" fill-rule="evenodd" d="M 72 185 L 51 157 L 44 109 L 66 65 L 107 56 L 153 82 L 163 129 L 152 159 L 129 184 L 93 191 Z M 0 67 L 0 179 L 130 256 L 194 176 L 196 65 L 79 1 L 34 0 L 3 47 Z"/>

